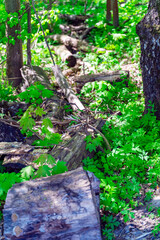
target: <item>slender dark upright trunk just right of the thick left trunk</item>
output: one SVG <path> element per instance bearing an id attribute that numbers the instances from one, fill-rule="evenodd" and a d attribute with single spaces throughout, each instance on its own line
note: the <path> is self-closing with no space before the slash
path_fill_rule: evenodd
<path id="1" fill-rule="evenodd" d="M 28 34 L 30 35 L 32 32 L 31 29 L 31 7 L 29 2 L 26 3 L 26 12 L 27 12 L 27 19 L 28 19 Z M 27 39 L 27 65 L 31 65 L 31 38 L 30 36 Z"/>

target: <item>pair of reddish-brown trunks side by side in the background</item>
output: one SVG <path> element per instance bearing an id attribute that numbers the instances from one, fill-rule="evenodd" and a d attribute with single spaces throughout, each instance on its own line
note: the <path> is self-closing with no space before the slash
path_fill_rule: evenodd
<path id="1" fill-rule="evenodd" d="M 113 11 L 113 25 L 119 26 L 118 0 L 107 0 L 106 20 L 111 21 L 111 11 Z"/>

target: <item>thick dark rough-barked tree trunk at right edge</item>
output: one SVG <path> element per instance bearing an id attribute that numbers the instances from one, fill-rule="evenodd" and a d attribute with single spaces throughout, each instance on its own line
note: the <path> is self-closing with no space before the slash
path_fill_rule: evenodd
<path id="1" fill-rule="evenodd" d="M 160 119 L 160 0 L 150 0 L 148 12 L 137 25 L 141 43 L 141 69 L 145 95 L 145 113 L 154 104 Z M 150 105 L 150 106 L 149 106 Z"/>

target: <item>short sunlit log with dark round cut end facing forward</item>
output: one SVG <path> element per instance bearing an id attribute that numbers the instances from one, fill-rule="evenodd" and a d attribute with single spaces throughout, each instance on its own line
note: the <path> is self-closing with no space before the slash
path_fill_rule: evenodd
<path id="1" fill-rule="evenodd" d="M 53 48 L 56 55 L 60 56 L 63 62 L 67 61 L 68 67 L 74 67 L 76 65 L 76 58 L 72 53 L 65 47 L 65 45 L 55 46 Z"/>

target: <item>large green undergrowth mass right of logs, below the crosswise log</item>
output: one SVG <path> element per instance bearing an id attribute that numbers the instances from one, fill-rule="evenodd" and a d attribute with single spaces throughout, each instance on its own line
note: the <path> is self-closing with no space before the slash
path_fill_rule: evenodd
<path id="1" fill-rule="evenodd" d="M 143 115 L 143 95 L 133 83 L 95 82 L 82 89 L 90 97 L 92 111 L 101 111 L 107 121 L 103 134 L 112 151 L 105 148 L 102 137 L 87 137 L 87 147 L 92 144 L 103 148 L 94 158 L 84 159 L 84 169 L 91 171 L 100 181 L 100 208 L 105 213 L 103 234 L 114 239 L 113 231 L 118 226 L 115 216 L 123 215 L 124 221 L 134 218 L 131 209 L 139 206 L 141 188 L 149 184 L 156 189 L 160 175 L 160 121 L 154 116 L 154 106 Z M 97 147 L 97 144 L 95 145 Z M 147 196 L 146 196 L 147 197 Z M 156 228 L 158 229 L 158 227 Z"/>

